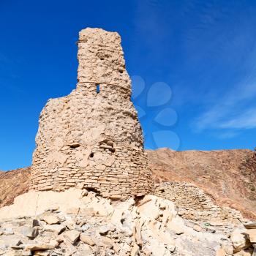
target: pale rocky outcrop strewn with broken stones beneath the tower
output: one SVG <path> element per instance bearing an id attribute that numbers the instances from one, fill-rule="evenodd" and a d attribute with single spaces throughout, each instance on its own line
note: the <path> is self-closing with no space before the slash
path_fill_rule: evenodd
<path id="1" fill-rule="evenodd" d="M 154 195 L 121 202 L 86 189 L 29 192 L 0 209 L 0 255 L 225 256 L 253 250 L 245 231 L 241 223 L 195 224 Z"/>

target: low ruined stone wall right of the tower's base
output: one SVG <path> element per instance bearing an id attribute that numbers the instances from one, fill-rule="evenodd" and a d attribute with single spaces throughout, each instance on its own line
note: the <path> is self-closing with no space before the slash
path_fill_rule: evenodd
<path id="1" fill-rule="evenodd" d="M 202 189 L 186 182 L 164 182 L 157 184 L 154 195 L 173 201 L 178 214 L 185 219 L 200 222 L 240 223 L 244 219 L 240 213 L 230 207 L 219 207 Z"/>

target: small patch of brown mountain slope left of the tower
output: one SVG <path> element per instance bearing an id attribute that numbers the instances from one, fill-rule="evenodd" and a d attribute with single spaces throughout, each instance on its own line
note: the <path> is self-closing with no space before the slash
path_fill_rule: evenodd
<path id="1" fill-rule="evenodd" d="M 30 167 L 0 173 L 0 207 L 10 205 L 14 198 L 28 191 Z"/>

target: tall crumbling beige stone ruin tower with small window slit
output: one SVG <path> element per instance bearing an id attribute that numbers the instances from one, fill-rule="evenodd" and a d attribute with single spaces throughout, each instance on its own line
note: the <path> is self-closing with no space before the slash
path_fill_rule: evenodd
<path id="1" fill-rule="evenodd" d="M 30 189 L 80 187 L 114 199 L 145 195 L 153 181 L 120 36 L 83 29 L 78 62 L 76 89 L 49 99 L 40 114 Z"/>

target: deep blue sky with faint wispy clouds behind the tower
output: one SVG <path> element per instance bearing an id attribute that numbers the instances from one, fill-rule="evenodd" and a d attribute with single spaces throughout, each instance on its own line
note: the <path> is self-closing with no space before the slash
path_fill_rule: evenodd
<path id="1" fill-rule="evenodd" d="M 0 0 L 0 170 L 31 164 L 88 26 L 121 34 L 146 148 L 256 146 L 255 1 Z"/>

